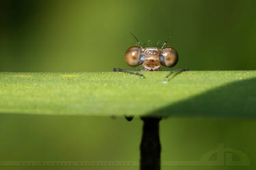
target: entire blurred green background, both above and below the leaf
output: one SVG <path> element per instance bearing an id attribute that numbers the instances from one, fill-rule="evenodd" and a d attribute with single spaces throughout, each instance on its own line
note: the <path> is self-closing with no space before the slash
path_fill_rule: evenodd
<path id="1" fill-rule="evenodd" d="M 0 71 L 130 69 L 124 61 L 126 49 L 136 45 L 130 31 L 144 43 L 150 39 L 161 44 L 171 35 L 169 44 L 180 54 L 175 68 L 255 69 L 255 7 L 253 0 L 3 0 Z M 142 126 L 139 118 L 126 122 L 124 118 L 83 116 L 1 114 L 0 117 L 0 160 L 139 160 Z M 162 120 L 160 129 L 162 160 L 198 160 L 218 143 L 225 143 L 251 158 L 250 167 L 236 169 L 255 169 L 253 120 L 169 118 Z"/>

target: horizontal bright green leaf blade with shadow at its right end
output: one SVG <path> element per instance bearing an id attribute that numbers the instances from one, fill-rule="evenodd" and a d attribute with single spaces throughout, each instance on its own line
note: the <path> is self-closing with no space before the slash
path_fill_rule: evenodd
<path id="1" fill-rule="evenodd" d="M 256 116 L 256 71 L 0 73 L 0 113 Z"/>

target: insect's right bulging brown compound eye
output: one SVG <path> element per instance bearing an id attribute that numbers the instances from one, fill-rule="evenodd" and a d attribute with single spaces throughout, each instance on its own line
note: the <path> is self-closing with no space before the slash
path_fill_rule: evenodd
<path id="1" fill-rule="evenodd" d="M 162 49 L 162 55 L 160 56 L 160 61 L 162 65 L 166 67 L 173 67 L 177 64 L 178 58 L 179 56 L 176 50 L 174 50 L 173 48 L 167 47 Z"/>

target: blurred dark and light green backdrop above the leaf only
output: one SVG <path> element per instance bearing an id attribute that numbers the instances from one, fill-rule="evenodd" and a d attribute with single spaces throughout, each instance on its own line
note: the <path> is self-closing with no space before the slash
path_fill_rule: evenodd
<path id="1" fill-rule="evenodd" d="M 136 45 L 130 31 L 142 46 L 159 47 L 171 35 L 181 68 L 250 70 L 256 65 L 253 0 L 46 0 L 1 6 L 0 71 L 128 69 L 124 53 Z"/>

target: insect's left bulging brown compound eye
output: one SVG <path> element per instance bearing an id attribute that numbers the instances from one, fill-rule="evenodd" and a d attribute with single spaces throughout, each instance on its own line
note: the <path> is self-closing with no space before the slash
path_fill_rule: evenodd
<path id="1" fill-rule="evenodd" d="M 137 66 L 141 61 L 141 48 L 132 46 L 126 51 L 126 63 L 130 66 Z"/>

